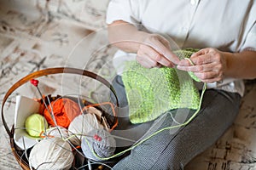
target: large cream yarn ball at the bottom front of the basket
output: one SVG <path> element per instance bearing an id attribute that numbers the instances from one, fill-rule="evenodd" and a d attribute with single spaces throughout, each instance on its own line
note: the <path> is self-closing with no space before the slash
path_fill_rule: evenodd
<path id="1" fill-rule="evenodd" d="M 44 139 L 35 144 L 29 156 L 29 163 L 40 169 L 70 169 L 73 164 L 71 146 L 61 138 Z"/>

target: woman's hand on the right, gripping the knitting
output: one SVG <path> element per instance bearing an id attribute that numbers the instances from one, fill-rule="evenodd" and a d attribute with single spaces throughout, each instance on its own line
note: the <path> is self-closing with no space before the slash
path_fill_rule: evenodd
<path id="1" fill-rule="evenodd" d="M 181 59 L 177 69 L 194 72 L 201 82 L 222 81 L 227 67 L 223 52 L 216 48 L 203 48 L 192 54 L 190 60 L 194 65 L 191 65 L 188 59 Z"/>

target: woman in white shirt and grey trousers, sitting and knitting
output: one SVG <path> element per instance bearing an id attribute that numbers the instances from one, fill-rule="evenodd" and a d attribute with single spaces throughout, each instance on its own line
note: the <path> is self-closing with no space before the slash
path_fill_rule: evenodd
<path id="1" fill-rule="evenodd" d="M 253 0 L 110 1 L 109 42 L 121 50 L 114 59 L 117 68 L 122 68 L 122 61 L 131 60 L 129 54 L 136 54 L 137 62 L 146 68 L 176 67 L 194 72 L 207 83 L 201 111 L 192 122 L 176 133 L 154 135 L 113 169 L 183 169 L 230 127 L 244 92 L 242 79 L 256 77 L 255 19 Z M 201 50 L 190 61 L 178 59 L 173 44 Z M 122 71 L 118 73 L 113 84 L 124 106 L 127 100 Z M 168 116 L 160 128 L 172 125 L 173 119 Z"/>

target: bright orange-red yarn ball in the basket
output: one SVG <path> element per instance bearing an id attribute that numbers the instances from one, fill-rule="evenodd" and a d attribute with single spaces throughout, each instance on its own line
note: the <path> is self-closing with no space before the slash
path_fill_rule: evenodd
<path id="1" fill-rule="evenodd" d="M 51 111 L 51 107 L 53 108 L 55 121 L 60 127 L 67 128 L 70 122 L 73 121 L 73 118 L 79 116 L 81 113 L 79 105 L 72 99 L 57 99 L 56 101 L 52 101 L 50 105 L 48 106 L 48 109 Z M 47 111 L 47 109 L 44 110 L 44 117 L 49 125 L 56 126 L 49 111 Z"/>

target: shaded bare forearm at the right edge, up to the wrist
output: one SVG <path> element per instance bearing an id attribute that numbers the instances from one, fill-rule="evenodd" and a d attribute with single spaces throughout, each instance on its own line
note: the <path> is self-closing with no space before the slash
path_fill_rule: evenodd
<path id="1" fill-rule="evenodd" d="M 256 78 L 256 52 L 243 51 L 241 53 L 224 53 L 226 60 L 226 77 L 242 79 Z"/>

